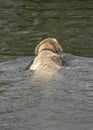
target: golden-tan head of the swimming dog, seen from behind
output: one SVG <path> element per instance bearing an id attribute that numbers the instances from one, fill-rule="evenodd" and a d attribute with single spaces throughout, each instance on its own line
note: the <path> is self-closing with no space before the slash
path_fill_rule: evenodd
<path id="1" fill-rule="evenodd" d="M 35 55 L 38 55 L 42 50 L 50 50 L 59 53 L 62 52 L 62 47 L 55 38 L 46 38 L 36 46 Z"/>

